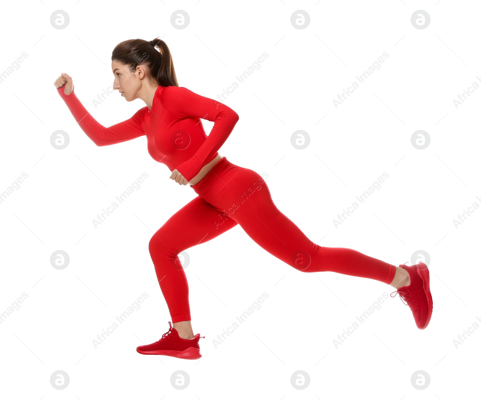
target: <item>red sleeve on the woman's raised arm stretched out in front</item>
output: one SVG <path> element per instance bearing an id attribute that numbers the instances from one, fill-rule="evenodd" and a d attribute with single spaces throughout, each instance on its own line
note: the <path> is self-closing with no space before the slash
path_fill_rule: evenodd
<path id="1" fill-rule="evenodd" d="M 82 128 L 97 146 L 121 143 L 145 135 L 145 132 L 140 125 L 140 115 L 143 112 L 143 109 L 140 109 L 129 119 L 106 128 L 105 126 L 100 125 L 89 114 L 80 100 L 78 100 L 74 90 L 72 90 L 72 93 L 69 95 L 64 93 L 63 86 L 58 87 L 57 91 L 63 101 L 65 101 L 70 112 L 72 112 L 72 115 L 80 128 Z"/>

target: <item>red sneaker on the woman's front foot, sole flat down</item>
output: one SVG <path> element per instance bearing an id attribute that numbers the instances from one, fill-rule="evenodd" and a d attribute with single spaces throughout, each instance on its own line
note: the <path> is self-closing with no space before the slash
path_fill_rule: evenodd
<path id="1" fill-rule="evenodd" d="M 201 349 L 199 348 L 199 339 L 205 336 L 200 336 L 201 334 L 198 333 L 193 339 L 182 339 L 176 328 L 172 327 L 170 321 L 169 326 L 169 330 L 162 335 L 160 340 L 152 344 L 139 346 L 137 352 L 140 354 L 157 354 L 184 358 L 187 360 L 197 360 L 202 357 Z"/>

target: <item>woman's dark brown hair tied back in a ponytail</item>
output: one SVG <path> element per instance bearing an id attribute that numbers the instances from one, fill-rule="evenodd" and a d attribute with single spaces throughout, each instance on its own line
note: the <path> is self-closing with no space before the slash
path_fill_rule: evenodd
<path id="1" fill-rule="evenodd" d="M 154 79 L 158 85 L 179 86 L 169 48 L 161 39 L 124 40 L 112 51 L 112 61 L 114 60 L 128 65 L 130 73 L 135 71 L 137 65 L 143 63 L 147 67 L 150 78 Z"/>

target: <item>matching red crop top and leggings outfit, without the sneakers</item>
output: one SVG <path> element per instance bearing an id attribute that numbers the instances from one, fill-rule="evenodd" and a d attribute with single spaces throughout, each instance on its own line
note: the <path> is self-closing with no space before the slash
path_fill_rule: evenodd
<path id="1" fill-rule="evenodd" d="M 74 92 L 58 92 L 78 125 L 97 146 L 147 137 L 152 158 L 188 181 L 217 156 L 239 116 L 223 103 L 185 87 L 159 86 L 152 108 L 137 111 L 124 122 L 100 125 Z M 214 126 L 206 136 L 201 122 Z M 178 254 L 215 238 L 236 225 L 259 246 L 303 272 L 332 271 L 390 284 L 396 267 L 356 250 L 316 245 L 272 201 L 266 181 L 255 171 L 223 157 L 196 185 L 193 200 L 155 232 L 149 251 L 172 322 L 189 321 L 189 287 Z"/>

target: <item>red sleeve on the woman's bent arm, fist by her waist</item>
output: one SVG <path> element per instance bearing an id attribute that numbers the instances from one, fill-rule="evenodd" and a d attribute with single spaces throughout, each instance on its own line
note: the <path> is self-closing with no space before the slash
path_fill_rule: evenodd
<path id="1" fill-rule="evenodd" d="M 200 96 L 185 87 L 164 87 L 160 100 L 162 107 L 179 117 L 198 117 L 214 122 L 209 136 L 199 150 L 176 168 L 184 178 L 190 181 L 204 165 L 214 159 L 215 153 L 239 121 L 239 115 L 225 104 Z"/>

